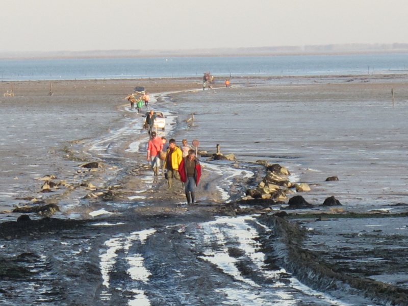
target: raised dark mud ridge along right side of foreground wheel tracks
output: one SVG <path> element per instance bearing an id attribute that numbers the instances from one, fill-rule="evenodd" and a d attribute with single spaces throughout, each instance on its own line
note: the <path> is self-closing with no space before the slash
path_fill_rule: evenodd
<path id="1" fill-rule="evenodd" d="M 303 248 L 307 233 L 298 224 L 274 216 L 262 216 L 260 221 L 273 230 L 262 238 L 267 261 L 285 268 L 303 284 L 333 296 L 349 293 L 384 305 L 408 305 L 408 289 L 336 272 L 318 254 Z"/>

